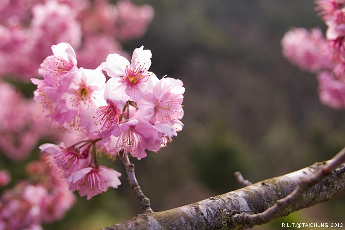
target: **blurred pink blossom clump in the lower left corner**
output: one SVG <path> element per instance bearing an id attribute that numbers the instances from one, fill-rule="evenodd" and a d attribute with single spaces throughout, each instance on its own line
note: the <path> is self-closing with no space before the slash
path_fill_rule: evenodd
<path id="1" fill-rule="evenodd" d="M 0 196 L 0 229 L 43 229 L 42 223 L 64 216 L 75 196 L 57 170 L 56 166 L 48 166 L 43 157 L 28 165 L 30 180 L 18 182 Z"/>

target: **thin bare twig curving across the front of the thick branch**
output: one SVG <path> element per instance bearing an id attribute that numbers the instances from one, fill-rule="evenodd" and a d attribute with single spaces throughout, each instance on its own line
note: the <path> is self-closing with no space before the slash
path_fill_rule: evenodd
<path id="1" fill-rule="evenodd" d="M 331 174 L 332 171 L 343 162 L 345 162 L 345 148 L 335 155 L 332 160 L 329 161 L 329 163 L 327 163 L 319 172 L 315 173 L 308 179 L 299 179 L 295 190 L 285 198 L 278 200 L 277 203 L 275 203 L 272 207 L 259 214 L 237 214 L 231 218 L 231 222 L 235 225 L 246 226 L 260 225 L 270 222 L 271 220 L 277 218 L 278 214 L 281 213 L 285 208 L 301 199 L 308 189 L 321 182 L 326 175 Z"/>

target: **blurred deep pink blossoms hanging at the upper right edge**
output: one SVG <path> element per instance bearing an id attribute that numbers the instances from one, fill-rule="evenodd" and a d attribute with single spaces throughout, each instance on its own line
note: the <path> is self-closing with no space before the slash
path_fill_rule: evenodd
<path id="1" fill-rule="evenodd" d="M 319 28 L 294 28 L 282 39 L 283 55 L 301 69 L 316 73 L 321 102 L 345 108 L 345 1 L 317 0 L 316 10 L 327 25 L 325 38 Z"/>

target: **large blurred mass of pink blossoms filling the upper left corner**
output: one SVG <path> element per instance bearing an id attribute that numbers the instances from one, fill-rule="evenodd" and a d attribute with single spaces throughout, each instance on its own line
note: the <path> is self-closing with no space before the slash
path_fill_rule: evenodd
<path id="1" fill-rule="evenodd" d="M 0 76 L 37 76 L 50 46 L 60 42 L 76 49 L 83 67 L 95 68 L 109 52 L 125 54 L 119 42 L 141 37 L 153 14 L 129 0 L 1 1 Z"/>

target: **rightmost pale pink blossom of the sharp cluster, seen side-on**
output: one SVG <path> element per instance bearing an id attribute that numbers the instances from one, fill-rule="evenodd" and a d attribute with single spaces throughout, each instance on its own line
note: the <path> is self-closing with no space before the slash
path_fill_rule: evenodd
<path id="1" fill-rule="evenodd" d="M 136 102 L 140 111 L 151 123 L 166 122 L 174 124 L 183 117 L 184 87 L 181 80 L 163 78 L 143 99 Z"/>

